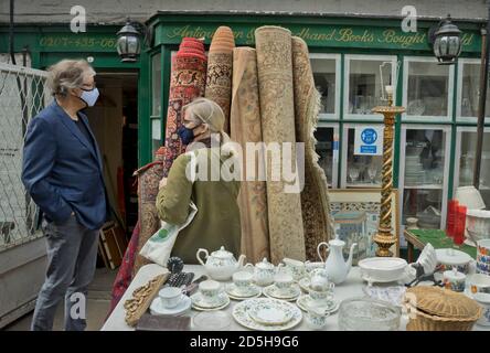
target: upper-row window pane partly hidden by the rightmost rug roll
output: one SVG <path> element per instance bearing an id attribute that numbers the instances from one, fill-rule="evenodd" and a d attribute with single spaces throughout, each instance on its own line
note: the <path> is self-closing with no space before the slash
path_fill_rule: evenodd
<path id="1" fill-rule="evenodd" d="M 335 113 L 335 60 L 311 58 L 315 85 L 321 95 L 322 109 L 320 113 Z"/>

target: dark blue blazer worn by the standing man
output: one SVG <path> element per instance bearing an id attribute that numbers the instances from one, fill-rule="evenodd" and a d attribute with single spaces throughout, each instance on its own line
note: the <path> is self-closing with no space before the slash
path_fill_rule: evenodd
<path id="1" fill-rule="evenodd" d="M 62 223 L 74 212 L 84 226 L 98 229 L 108 214 L 103 161 L 87 117 L 78 111 L 78 118 L 93 141 L 56 100 L 31 120 L 24 141 L 22 182 L 47 221 Z"/>

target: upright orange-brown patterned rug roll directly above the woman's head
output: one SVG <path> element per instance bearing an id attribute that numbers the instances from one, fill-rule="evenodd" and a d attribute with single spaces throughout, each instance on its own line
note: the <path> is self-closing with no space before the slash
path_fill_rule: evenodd
<path id="1" fill-rule="evenodd" d="M 235 40 L 232 30 L 227 26 L 220 26 L 211 41 L 204 94 L 206 98 L 214 100 L 223 109 L 225 116 L 224 131 L 227 133 L 230 133 L 234 47 Z"/>

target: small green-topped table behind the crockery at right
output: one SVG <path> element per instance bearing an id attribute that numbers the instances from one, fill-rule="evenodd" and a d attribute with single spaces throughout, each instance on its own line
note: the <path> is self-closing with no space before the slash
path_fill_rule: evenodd
<path id="1" fill-rule="evenodd" d="M 430 243 L 435 249 L 451 247 L 467 253 L 471 258 L 477 258 L 476 247 L 467 244 L 456 245 L 441 229 L 405 229 L 404 235 L 408 247 L 408 263 L 414 261 L 414 248 L 422 250 L 427 243 Z"/>

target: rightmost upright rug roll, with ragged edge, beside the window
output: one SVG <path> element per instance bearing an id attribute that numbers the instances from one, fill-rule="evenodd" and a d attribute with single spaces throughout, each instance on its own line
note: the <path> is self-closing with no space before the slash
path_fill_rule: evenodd
<path id="1" fill-rule="evenodd" d="M 331 235 L 330 203 L 324 171 L 318 164 L 319 156 L 313 132 L 320 111 L 320 94 L 315 88 L 308 46 L 300 38 L 292 38 L 292 67 L 295 82 L 296 141 L 305 142 L 305 189 L 301 211 L 307 259 L 320 260 L 317 245 Z"/>

